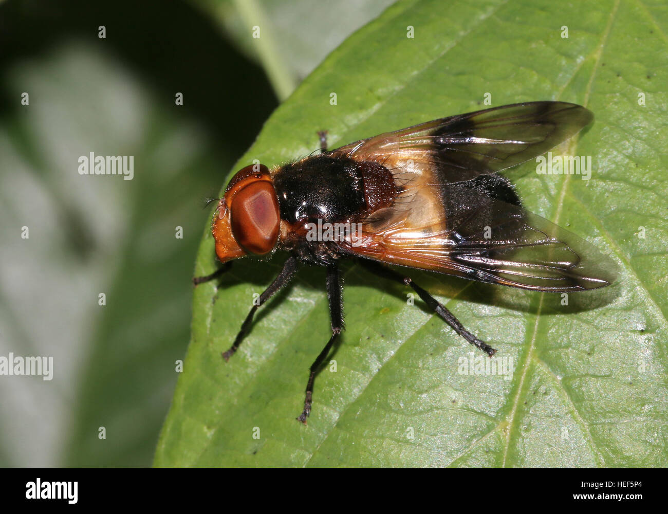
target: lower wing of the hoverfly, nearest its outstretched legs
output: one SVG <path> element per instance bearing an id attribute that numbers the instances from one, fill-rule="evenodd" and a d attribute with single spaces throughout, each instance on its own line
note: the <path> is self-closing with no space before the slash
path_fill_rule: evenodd
<path id="1" fill-rule="evenodd" d="M 361 237 L 342 246 L 385 263 L 536 291 L 582 291 L 615 281 L 617 265 L 595 247 L 474 182 L 424 186 L 429 194 L 374 213 Z M 444 194 L 440 213 L 428 203 L 436 192 Z"/>

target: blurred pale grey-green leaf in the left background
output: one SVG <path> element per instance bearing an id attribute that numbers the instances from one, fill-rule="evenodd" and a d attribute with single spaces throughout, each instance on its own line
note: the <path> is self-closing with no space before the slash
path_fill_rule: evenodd
<path id="1" fill-rule="evenodd" d="M 30 105 L 0 127 L 3 263 L 15 277 L 0 294 L 1 354 L 53 356 L 55 369 L 52 382 L 4 390 L 5 413 L 19 413 L 3 416 L 5 465 L 146 466 L 188 338 L 198 200 L 218 162 L 194 122 L 156 107 L 122 64 L 81 43 L 13 70 L 11 82 Z M 133 180 L 80 176 L 89 152 L 133 156 Z M 30 238 L 17 240 L 24 224 Z M 32 409 L 39 419 L 26 423 Z M 15 455 L 17 441 L 40 451 Z"/>

